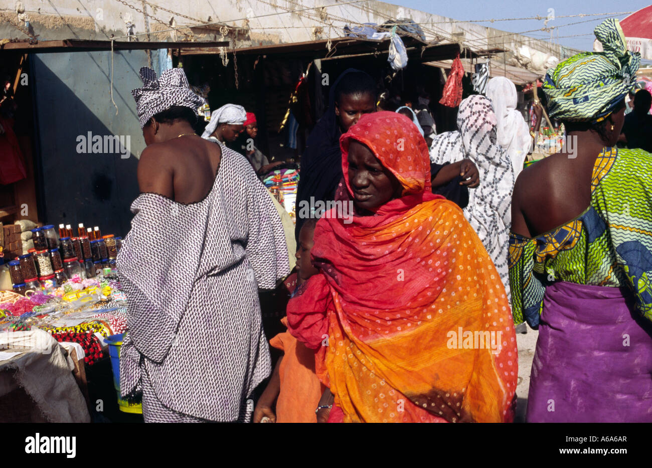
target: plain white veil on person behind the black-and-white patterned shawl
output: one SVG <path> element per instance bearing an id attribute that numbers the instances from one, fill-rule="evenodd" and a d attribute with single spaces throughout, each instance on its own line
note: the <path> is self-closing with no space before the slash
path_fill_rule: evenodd
<path id="1" fill-rule="evenodd" d="M 497 76 L 487 83 L 486 96 L 491 100 L 496 113 L 498 144 L 509 154 L 514 166 L 514 177 L 518 177 L 523 170 L 532 138 L 525 119 L 516 110 L 516 87 L 504 76 Z"/>

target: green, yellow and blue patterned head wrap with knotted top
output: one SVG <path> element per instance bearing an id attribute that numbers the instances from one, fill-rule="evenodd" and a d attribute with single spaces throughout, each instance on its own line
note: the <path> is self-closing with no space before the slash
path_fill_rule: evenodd
<path id="1" fill-rule="evenodd" d="M 641 54 L 627 50 L 618 20 L 604 20 L 593 33 L 604 52 L 573 55 L 546 74 L 543 91 L 551 119 L 599 122 L 636 83 Z"/>

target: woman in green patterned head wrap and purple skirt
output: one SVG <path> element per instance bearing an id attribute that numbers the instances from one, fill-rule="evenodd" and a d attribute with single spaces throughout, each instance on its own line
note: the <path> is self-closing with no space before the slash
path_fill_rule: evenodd
<path id="1" fill-rule="evenodd" d="M 640 55 L 617 20 L 594 32 L 604 52 L 544 80 L 563 149 L 512 195 L 512 314 L 539 329 L 530 422 L 652 422 L 652 154 L 615 147 Z"/>

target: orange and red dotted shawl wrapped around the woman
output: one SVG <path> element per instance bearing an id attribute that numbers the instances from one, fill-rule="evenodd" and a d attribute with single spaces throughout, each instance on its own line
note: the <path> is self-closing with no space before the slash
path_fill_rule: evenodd
<path id="1" fill-rule="evenodd" d="M 291 333 L 317 350 L 345 422 L 511 421 L 518 358 L 505 289 L 462 211 L 430 193 L 424 139 L 403 115 L 364 115 L 340 140 L 349 190 L 351 139 L 403 196 L 350 224 L 319 220 L 320 272 L 289 301 Z M 499 353 L 476 332 L 494 336 Z"/>

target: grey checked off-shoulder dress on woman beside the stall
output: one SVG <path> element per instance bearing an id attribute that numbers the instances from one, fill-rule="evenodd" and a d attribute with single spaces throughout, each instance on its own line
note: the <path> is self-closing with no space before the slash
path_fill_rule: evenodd
<path id="1" fill-rule="evenodd" d="M 243 420 L 246 399 L 271 372 L 258 287 L 289 273 L 267 190 L 241 154 L 222 147 L 204 199 L 184 205 L 145 193 L 131 209 L 117 258 L 128 297 L 122 394 L 151 390 L 183 415 Z"/>

